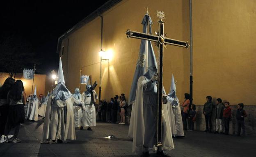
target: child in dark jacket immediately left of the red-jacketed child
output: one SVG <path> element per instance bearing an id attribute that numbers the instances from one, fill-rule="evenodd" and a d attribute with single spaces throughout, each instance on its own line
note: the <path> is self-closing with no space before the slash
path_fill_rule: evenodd
<path id="1" fill-rule="evenodd" d="M 216 106 L 216 131 L 215 133 L 222 133 L 222 117 L 223 117 L 223 110 L 225 106 L 222 103 L 222 99 L 217 99 L 217 106 Z"/>

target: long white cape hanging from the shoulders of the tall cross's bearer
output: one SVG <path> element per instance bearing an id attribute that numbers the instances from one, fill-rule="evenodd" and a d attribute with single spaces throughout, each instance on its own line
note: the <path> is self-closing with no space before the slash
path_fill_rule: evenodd
<path id="1" fill-rule="evenodd" d="M 144 145 L 144 134 L 145 134 L 145 124 L 143 116 L 143 87 L 146 85 L 146 79 L 144 76 L 139 77 L 137 83 L 135 102 L 133 103 L 130 126 L 128 137 L 133 138 L 133 152 L 136 154 L 142 153 Z M 166 126 L 170 126 L 170 117 L 168 114 L 167 105 L 163 105 L 163 121 L 165 121 Z M 162 148 L 164 150 L 174 149 L 174 143 L 172 139 L 171 127 L 163 127 L 165 130 L 162 136 Z M 154 136 L 154 135 L 152 135 Z"/>

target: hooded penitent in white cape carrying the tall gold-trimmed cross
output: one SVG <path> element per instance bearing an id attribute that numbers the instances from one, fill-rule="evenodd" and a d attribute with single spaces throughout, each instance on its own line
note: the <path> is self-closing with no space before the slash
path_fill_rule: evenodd
<path id="1" fill-rule="evenodd" d="M 143 31 L 146 33 L 147 24 L 151 33 L 151 18 L 148 14 L 144 16 L 142 21 Z M 146 42 L 147 45 L 143 45 Z M 143 50 L 143 51 L 142 51 Z M 142 74 L 139 66 L 145 66 L 145 59 L 141 57 L 148 55 L 146 73 Z M 136 66 L 133 84 L 130 92 L 129 104 L 133 103 L 128 137 L 133 138 L 133 152 L 139 154 L 144 147 L 152 148 L 155 144 L 154 135 L 156 132 L 156 110 L 157 110 L 157 86 L 156 82 L 151 82 L 151 77 L 157 73 L 157 62 L 151 42 L 142 40 L 138 64 Z M 141 61 L 141 62 L 139 62 Z M 138 70 L 139 69 L 139 70 Z M 145 70 L 145 69 L 143 69 Z M 136 82 L 137 81 L 137 82 Z M 163 92 L 165 95 L 165 91 Z M 145 105 L 144 105 L 145 104 Z M 174 144 L 171 136 L 171 128 L 169 122 L 169 114 L 166 105 L 163 105 L 163 132 L 162 132 L 162 148 L 173 149 Z"/>

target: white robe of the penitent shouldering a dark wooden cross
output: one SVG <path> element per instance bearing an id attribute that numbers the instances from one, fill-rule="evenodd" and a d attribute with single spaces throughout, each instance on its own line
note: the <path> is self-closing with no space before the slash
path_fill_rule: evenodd
<path id="1" fill-rule="evenodd" d="M 95 98 L 98 95 L 95 93 Z M 85 106 L 85 111 L 82 111 L 81 126 L 96 126 L 96 112 L 94 103 L 90 105 L 91 96 L 87 96 L 85 92 L 82 93 L 82 106 Z"/>

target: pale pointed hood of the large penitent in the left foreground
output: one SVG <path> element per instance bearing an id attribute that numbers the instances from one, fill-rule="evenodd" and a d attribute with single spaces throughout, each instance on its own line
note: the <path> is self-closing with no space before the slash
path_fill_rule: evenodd
<path id="1" fill-rule="evenodd" d="M 53 96 L 55 100 L 67 100 L 71 97 L 70 91 L 65 86 L 65 80 L 62 70 L 62 60 L 59 58 L 58 84 L 53 89 Z"/>

